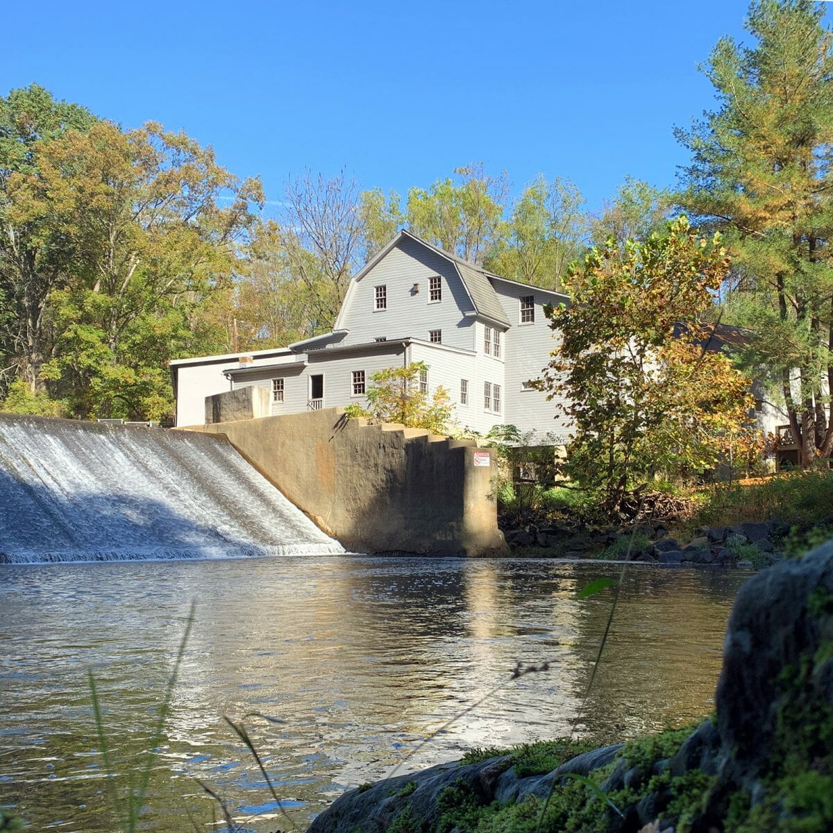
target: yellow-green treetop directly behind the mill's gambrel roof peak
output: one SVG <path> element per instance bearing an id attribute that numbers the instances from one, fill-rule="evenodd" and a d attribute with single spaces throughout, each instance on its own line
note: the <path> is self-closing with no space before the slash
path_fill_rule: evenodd
<path id="1" fill-rule="evenodd" d="M 427 190 L 408 192 L 407 224 L 435 246 L 480 265 L 502 233 L 508 179 L 505 171 L 487 176 L 482 162 L 455 168 L 454 173 L 457 182 L 438 179 Z"/>

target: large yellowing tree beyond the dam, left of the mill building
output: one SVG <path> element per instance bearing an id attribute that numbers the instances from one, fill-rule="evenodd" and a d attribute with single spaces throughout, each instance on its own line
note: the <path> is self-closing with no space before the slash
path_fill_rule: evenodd
<path id="1" fill-rule="evenodd" d="M 192 315 L 229 285 L 259 183 L 153 123 L 69 130 L 34 159 L 16 205 L 54 218 L 72 252 L 71 280 L 48 295 L 54 355 L 41 377 L 76 416 L 167 416 L 167 360 L 202 352 Z"/>

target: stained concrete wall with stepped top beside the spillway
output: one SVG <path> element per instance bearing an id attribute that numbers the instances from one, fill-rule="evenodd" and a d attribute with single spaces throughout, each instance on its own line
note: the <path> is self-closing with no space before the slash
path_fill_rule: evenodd
<path id="1" fill-rule="evenodd" d="M 296 506 L 357 552 L 501 555 L 491 451 L 347 419 L 342 408 L 194 426 L 225 434 Z M 475 461 L 481 465 L 475 465 Z M 482 465 L 486 463 L 486 465 Z"/>

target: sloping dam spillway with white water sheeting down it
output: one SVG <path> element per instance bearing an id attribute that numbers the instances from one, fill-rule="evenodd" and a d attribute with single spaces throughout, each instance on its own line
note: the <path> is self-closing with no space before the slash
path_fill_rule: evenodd
<path id="1" fill-rule="evenodd" d="M 342 552 L 224 437 L 0 414 L 0 562 Z"/>

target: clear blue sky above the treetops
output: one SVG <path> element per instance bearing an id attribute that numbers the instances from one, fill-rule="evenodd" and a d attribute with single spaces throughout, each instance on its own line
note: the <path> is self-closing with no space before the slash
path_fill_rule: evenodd
<path id="1" fill-rule="evenodd" d="M 211 144 L 280 200 L 341 167 L 407 192 L 454 167 L 518 190 L 566 177 L 596 210 L 626 174 L 675 181 L 674 125 L 711 107 L 696 69 L 748 40 L 743 0 L 56 2 L 3 11 L 0 94 L 32 82 L 98 115 Z"/>

